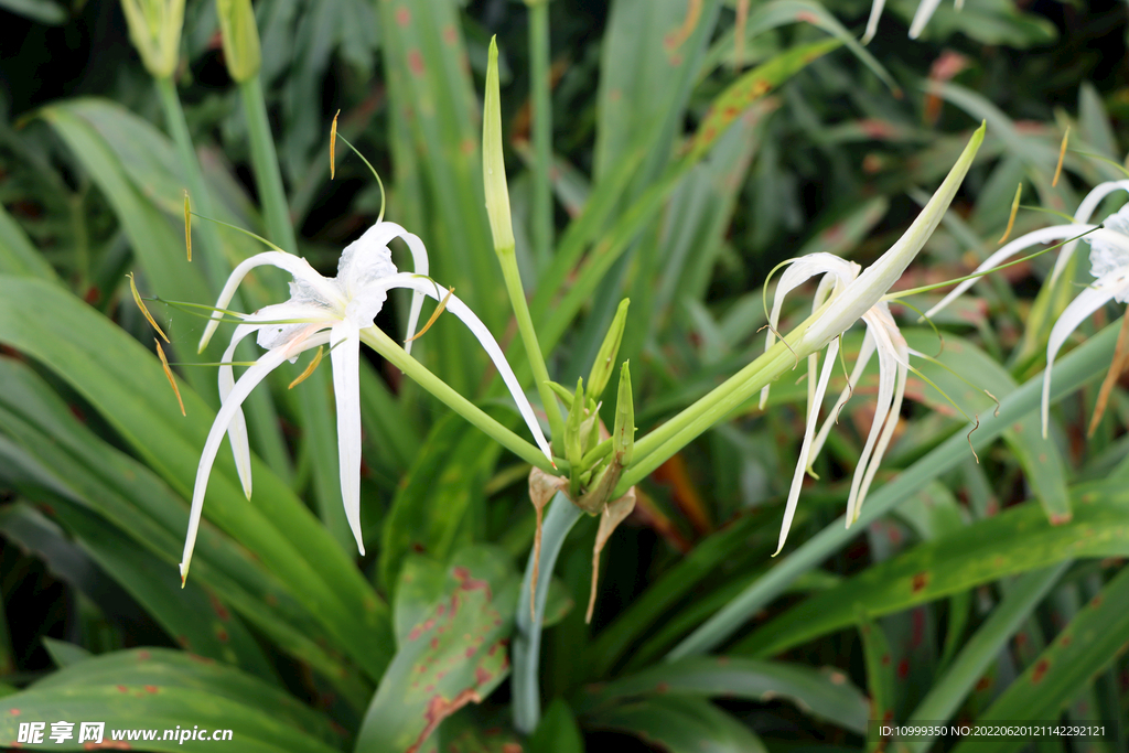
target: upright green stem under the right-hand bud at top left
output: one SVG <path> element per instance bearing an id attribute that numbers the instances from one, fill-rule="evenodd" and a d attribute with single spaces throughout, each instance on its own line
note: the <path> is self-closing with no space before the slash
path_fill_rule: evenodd
<path id="1" fill-rule="evenodd" d="M 255 170 L 259 201 L 263 205 L 266 237 L 291 254 L 298 253 L 298 239 L 290 221 L 290 207 L 282 189 L 282 174 L 274 151 L 274 138 L 266 117 L 266 102 L 259 75 L 239 85 L 243 112 L 247 119 L 247 137 L 251 143 L 251 166 Z"/>

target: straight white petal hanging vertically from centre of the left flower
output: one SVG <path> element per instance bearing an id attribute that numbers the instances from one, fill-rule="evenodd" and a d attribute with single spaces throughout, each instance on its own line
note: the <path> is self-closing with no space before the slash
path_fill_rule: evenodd
<path id="1" fill-rule="evenodd" d="M 333 396 L 338 408 L 338 463 L 345 519 L 365 553 L 360 531 L 360 332 L 345 319 L 330 331 L 330 359 L 333 364 Z"/>

